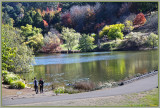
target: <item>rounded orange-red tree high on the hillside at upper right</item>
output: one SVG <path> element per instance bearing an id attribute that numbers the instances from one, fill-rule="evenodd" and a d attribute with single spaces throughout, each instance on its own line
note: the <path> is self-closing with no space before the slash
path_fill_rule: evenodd
<path id="1" fill-rule="evenodd" d="M 133 21 L 133 25 L 143 25 L 146 22 L 146 18 L 143 13 L 139 13 Z"/>

